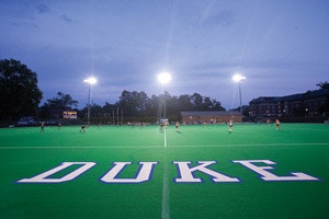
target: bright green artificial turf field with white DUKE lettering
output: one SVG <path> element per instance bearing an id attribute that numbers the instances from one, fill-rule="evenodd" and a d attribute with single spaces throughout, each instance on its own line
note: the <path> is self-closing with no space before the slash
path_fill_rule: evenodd
<path id="1" fill-rule="evenodd" d="M 328 125 L 227 129 L 0 129 L 0 218 L 329 218 Z"/>

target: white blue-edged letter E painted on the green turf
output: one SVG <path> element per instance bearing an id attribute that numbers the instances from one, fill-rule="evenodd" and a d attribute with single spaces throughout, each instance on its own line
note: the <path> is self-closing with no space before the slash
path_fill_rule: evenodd
<path id="1" fill-rule="evenodd" d="M 319 181 L 319 178 L 307 175 L 305 173 L 291 173 L 292 176 L 277 176 L 274 175 L 273 173 L 265 171 L 265 170 L 274 169 L 272 166 L 257 166 L 252 164 L 252 163 L 276 164 L 275 162 L 270 160 L 243 160 L 243 161 L 232 161 L 232 162 L 240 163 L 246 168 L 260 174 L 263 181 Z"/>

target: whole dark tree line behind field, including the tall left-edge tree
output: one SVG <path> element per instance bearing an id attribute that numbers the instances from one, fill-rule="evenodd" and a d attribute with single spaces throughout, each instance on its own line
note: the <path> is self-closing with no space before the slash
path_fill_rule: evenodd
<path id="1" fill-rule="evenodd" d="M 87 106 L 78 110 L 78 101 L 70 94 L 57 92 L 57 95 L 47 100 L 42 106 L 43 92 L 37 87 L 37 74 L 19 60 L 0 60 L 0 120 L 14 122 L 23 116 L 34 116 L 37 119 L 59 119 L 63 111 L 75 110 L 80 118 L 86 117 Z M 170 95 L 164 92 L 150 97 L 144 91 L 124 90 L 118 101 L 103 106 L 91 105 L 92 118 L 113 118 L 154 122 L 158 116 L 159 104 L 166 100 L 167 115 L 171 119 L 180 119 L 181 111 L 225 111 L 220 102 L 205 97 L 200 93 Z M 113 119 L 112 119 L 113 120 Z M 117 119 L 116 119 L 117 120 Z"/>

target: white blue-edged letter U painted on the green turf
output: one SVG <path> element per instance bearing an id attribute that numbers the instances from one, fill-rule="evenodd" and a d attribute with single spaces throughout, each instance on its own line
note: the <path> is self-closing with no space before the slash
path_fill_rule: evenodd
<path id="1" fill-rule="evenodd" d="M 114 166 L 101 178 L 104 183 L 143 183 L 150 180 L 151 171 L 158 162 L 139 162 L 141 168 L 135 178 L 115 178 L 132 162 L 114 162 Z"/>

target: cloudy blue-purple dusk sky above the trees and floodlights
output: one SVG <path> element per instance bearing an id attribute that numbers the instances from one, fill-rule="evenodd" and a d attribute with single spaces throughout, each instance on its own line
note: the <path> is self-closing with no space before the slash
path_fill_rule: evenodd
<path id="1" fill-rule="evenodd" d="M 83 107 L 121 93 L 211 96 L 227 110 L 329 81 L 328 0 L 0 0 L 0 59 L 37 73 L 42 103 L 60 91 Z"/>

